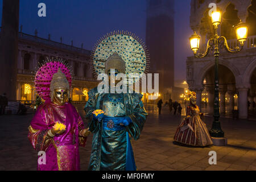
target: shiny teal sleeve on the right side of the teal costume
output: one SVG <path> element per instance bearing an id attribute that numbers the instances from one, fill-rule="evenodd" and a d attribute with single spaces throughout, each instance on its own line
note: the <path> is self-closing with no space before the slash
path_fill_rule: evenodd
<path id="1" fill-rule="evenodd" d="M 146 121 L 148 115 L 141 101 L 141 98 L 141 94 L 136 94 L 133 97 L 132 105 L 134 107 L 131 111 L 131 114 L 129 115 L 129 117 L 132 120 L 132 123 L 130 123 L 129 126 L 126 126 L 126 130 L 135 140 L 139 139 L 139 136 L 141 135 L 143 129 L 144 122 Z"/>

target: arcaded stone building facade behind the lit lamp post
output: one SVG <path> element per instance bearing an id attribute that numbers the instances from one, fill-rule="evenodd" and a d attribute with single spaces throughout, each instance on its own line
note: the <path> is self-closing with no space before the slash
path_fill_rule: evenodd
<path id="1" fill-rule="evenodd" d="M 238 46 L 234 27 L 240 19 L 249 26 L 243 50 L 228 53 L 221 48 L 219 57 L 220 113 L 231 113 L 238 109 L 239 117 L 247 118 L 249 111 L 254 111 L 256 102 L 256 1 L 192 0 L 190 26 L 192 31 L 201 36 L 198 52 L 205 51 L 207 41 L 213 37 L 208 15 L 208 5 L 212 2 L 222 12 L 218 34 L 228 39 L 229 47 Z M 208 98 L 204 98 L 208 102 L 207 112 L 213 114 L 213 50 L 203 59 L 187 57 L 187 82 L 189 89 L 197 93 L 197 105 L 201 106 L 202 92 L 207 95 Z"/>

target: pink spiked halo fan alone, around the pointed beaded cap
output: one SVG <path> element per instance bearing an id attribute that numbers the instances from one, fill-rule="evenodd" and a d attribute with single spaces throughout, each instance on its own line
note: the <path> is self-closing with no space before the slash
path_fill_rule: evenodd
<path id="1" fill-rule="evenodd" d="M 65 63 L 62 59 L 49 60 L 42 64 L 42 66 L 38 69 L 35 75 L 35 89 L 38 95 L 43 98 L 45 101 L 50 101 L 50 85 L 52 81 L 52 77 L 55 73 L 59 71 L 64 73 L 69 82 L 69 88 L 71 88 L 72 84 L 72 76 L 71 71 L 67 63 Z"/>

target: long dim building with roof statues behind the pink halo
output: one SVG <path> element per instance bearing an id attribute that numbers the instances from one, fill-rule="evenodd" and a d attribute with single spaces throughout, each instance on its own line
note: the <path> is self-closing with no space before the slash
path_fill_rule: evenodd
<path id="1" fill-rule="evenodd" d="M 54 42 L 50 39 L 50 35 L 48 39 L 39 38 L 37 31 L 35 35 L 28 35 L 21 30 L 18 39 L 16 100 L 35 100 L 34 76 L 39 65 L 47 58 L 67 61 L 73 73 L 71 99 L 72 101 L 87 101 L 87 92 L 98 84 L 90 69 L 90 51 L 63 44 L 62 40 Z"/>

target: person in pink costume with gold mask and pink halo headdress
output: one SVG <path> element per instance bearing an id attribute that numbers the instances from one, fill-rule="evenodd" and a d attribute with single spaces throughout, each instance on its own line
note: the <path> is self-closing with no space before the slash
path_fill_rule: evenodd
<path id="1" fill-rule="evenodd" d="M 38 107 L 31 125 L 28 139 L 37 151 L 46 152 L 45 163 L 38 163 L 38 170 L 79 170 L 79 145 L 85 146 L 88 129 L 68 102 L 71 87 L 69 68 L 61 61 L 49 61 L 35 76 L 36 91 L 44 99 Z M 65 129 L 53 127 L 63 123 Z"/>

